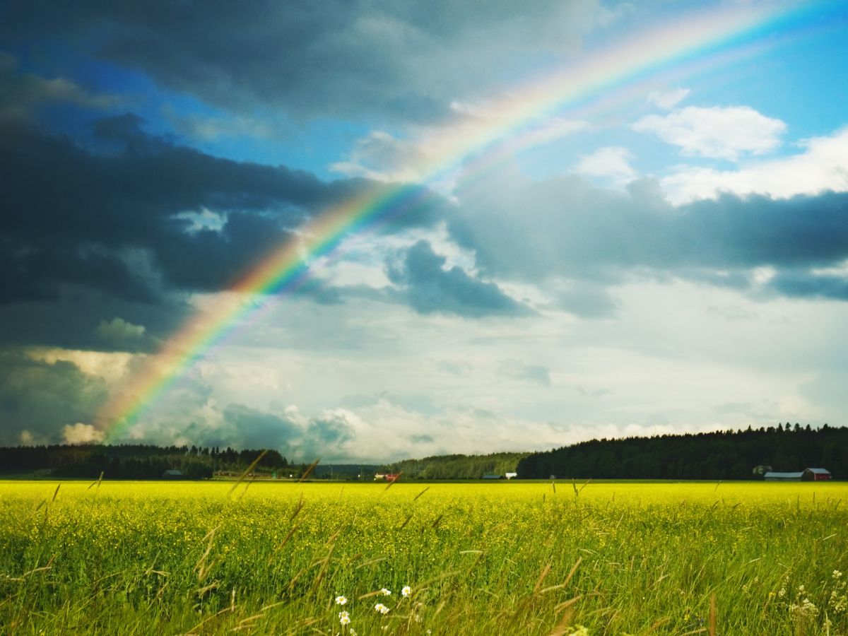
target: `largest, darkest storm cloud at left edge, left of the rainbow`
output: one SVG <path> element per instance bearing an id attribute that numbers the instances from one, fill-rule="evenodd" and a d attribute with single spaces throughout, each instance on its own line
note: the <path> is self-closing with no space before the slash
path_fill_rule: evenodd
<path id="1" fill-rule="evenodd" d="M 166 304 L 172 290 L 220 290 L 311 215 L 387 187 L 218 159 L 149 136 L 134 114 L 98 121 L 93 135 L 85 148 L 20 120 L 0 124 L 0 304 L 67 301 L 86 290 Z M 431 222 L 438 202 L 423 199 L 383 231 Z M 195 223 L 191 215 L 206 209 L 219 226 Z M 338 302 L 321 286 L 296 291 Z M 85 331 L 114 317 L 100 315 Z"/>

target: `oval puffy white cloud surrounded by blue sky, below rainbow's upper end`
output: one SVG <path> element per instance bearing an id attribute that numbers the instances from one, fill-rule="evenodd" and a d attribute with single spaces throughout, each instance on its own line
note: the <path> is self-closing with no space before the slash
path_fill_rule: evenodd
<path id="1" fill-rule="evenodd" d="M 687 106 L 665 117 L 647 115 L 633 124 L 633 130 L 653 132 L 679 146 L 683 154 L 737 161 L 743 154 L 764 154 L 778 148 L 786 124 L 747 106 Z"/>

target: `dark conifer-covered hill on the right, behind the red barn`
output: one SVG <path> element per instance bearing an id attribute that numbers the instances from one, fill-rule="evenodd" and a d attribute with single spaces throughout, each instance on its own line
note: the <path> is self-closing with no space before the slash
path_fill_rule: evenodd
<path id="1" fill-rule="evenodd" d="M 848 428 L 809 425 L 742 431 L 593 439 L 518 463 L 518 477 L 596 479 L 755 479 L 756 466 L 774 471 L 827 468 L 848 476 Z"/>

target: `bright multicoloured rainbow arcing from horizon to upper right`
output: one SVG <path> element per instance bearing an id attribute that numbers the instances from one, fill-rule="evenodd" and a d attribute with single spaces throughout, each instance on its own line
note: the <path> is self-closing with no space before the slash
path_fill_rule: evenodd
<path id="1" fill-rule="evenodd" d="M 388 185 L 360 192 L 298 228 L 298 240 L 281 245 L 228 292 L 209 298 L 158 353 L 149 355 L 99 411 L 95 425 L 109 441 L 125 436 L 200 355 L 248 321 L 256 311 L 257 295 L 280 296 L 302 285 L 310 262 L 338 251 L 346 237 L 408 214 L 435 196 L 439 184 L 472 182 L 523 148 L 561 135 L 568 127 L 564 114 L 573 120 L 608 107 L 616 95 L 633 98 L 637 89 L 687 64 L 697 66 L 755 47 L 774 32 L 810 27 L 824 6 L 742 6 L 689 13 L 512 87 L 509 97 L 489 103 L 482 115 L 458 117 L 433 131 L 427 138 L 431 153 L 416 170 L 417 181 L 427 187 Z"/>

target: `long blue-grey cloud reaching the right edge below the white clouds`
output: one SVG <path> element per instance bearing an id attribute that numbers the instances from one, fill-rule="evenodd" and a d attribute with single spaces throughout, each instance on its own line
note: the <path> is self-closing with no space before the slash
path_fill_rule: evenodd
<path id="1" fill-rule="evenodd" d="M 449 229 L 490 276 L 567 278 L 579 290 L 583 282 L 611 284 L 644 272 L 744 288 L 753 268 L 770 266 L 788 272 L 772 285 L 778 293 L 842 298 L 841 279 L 810 270 L 848 259 L 848 193 L 724 195 L 673 207 L 650 180 L 627 192 L 578 177 L 517 187 L 489 183 L 465 193 Z M 576 300 L 566 293 L 566 309 Z M 575 313 L 613 309 L 600 296 Z"/>

